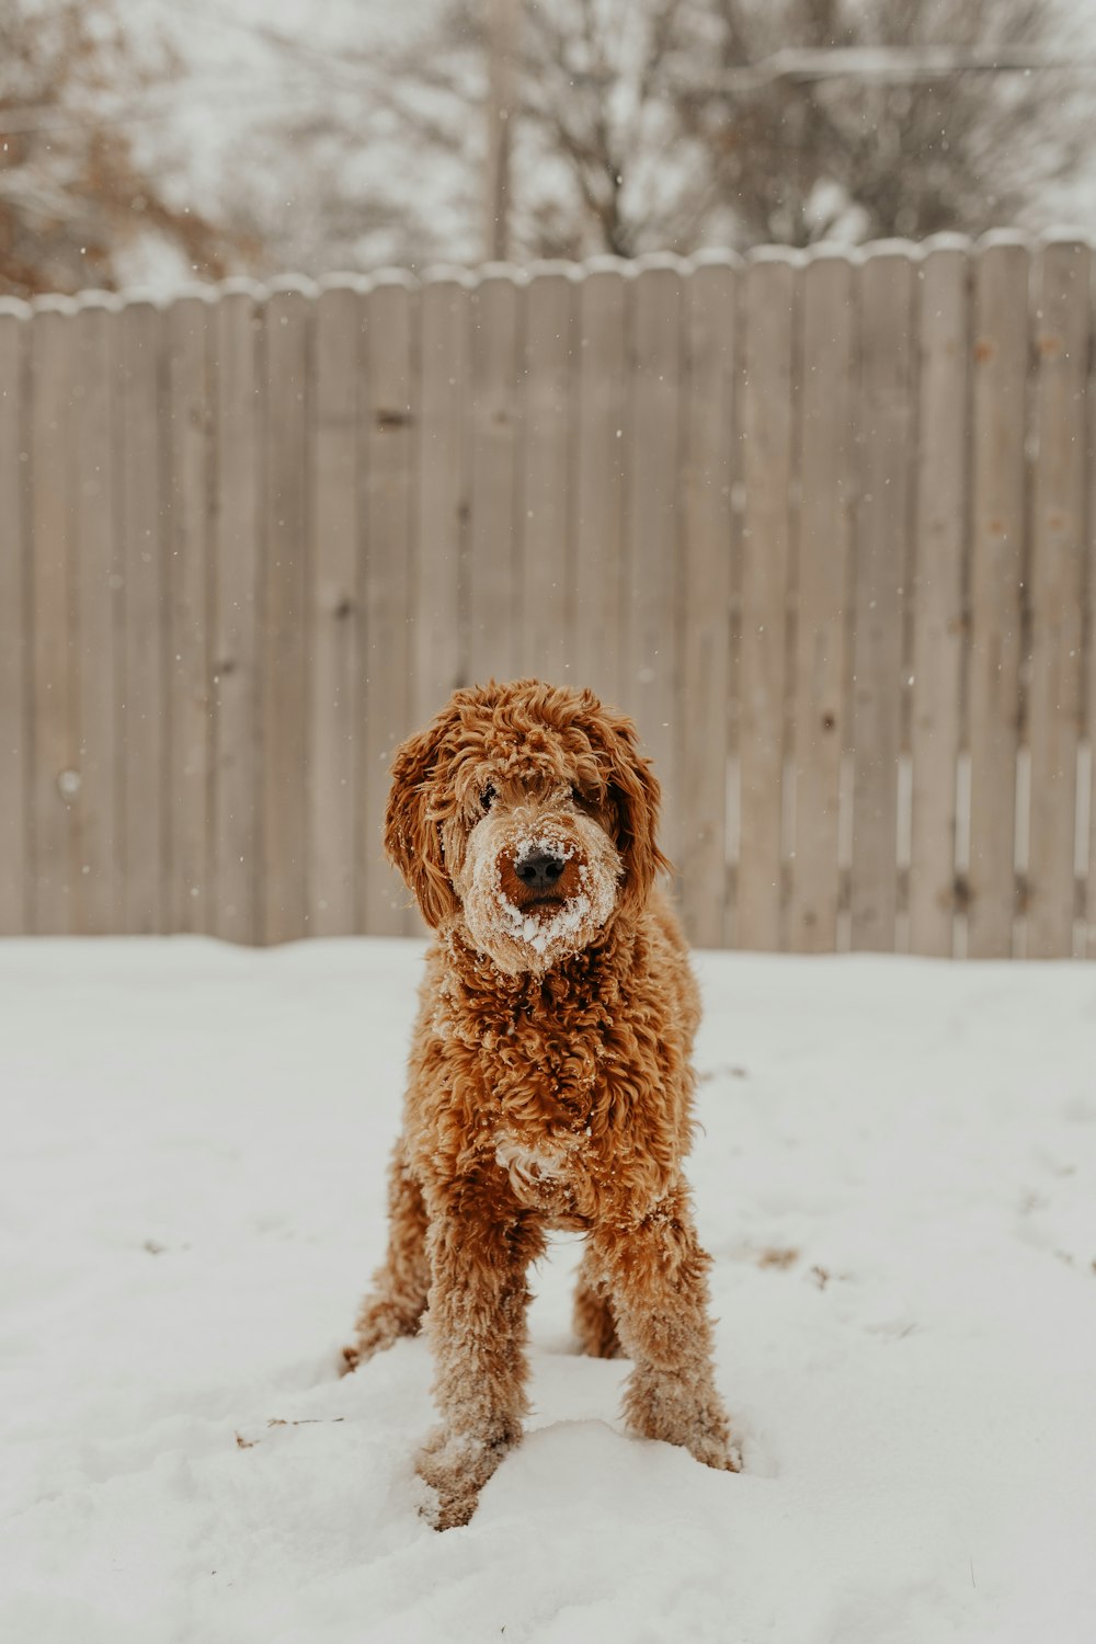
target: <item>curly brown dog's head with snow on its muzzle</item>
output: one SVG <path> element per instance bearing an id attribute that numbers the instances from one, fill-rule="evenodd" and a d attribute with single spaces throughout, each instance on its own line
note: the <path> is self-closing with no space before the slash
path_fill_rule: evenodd
<path id="1" fill-rule="evenodd" d="M 508 975 L 638 912 L 669 863 L 629 718 L 536 679 L 458 690 L 396 753 L 385 848 L 431 926 L 462 917 Z"/>

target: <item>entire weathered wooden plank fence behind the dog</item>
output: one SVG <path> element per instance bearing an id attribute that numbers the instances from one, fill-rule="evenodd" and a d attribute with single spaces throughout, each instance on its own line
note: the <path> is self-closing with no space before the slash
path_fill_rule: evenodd
<path id="1" fill-rule="evenodd" d="M 536 672 L 697 942 L 1096 955 L 1091 337 L 1015 235 L 0 304 L 0 932 L 414 931 L 391 750 Z"/>

